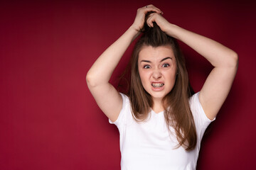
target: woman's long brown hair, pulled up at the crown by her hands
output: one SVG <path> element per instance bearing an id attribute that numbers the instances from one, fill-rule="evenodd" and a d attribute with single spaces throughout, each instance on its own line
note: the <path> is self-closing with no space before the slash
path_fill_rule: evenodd
<path id="1" fill-rule="evenodd" d="M 137 121 L 148 118 L 153 101 L 143 86 L 139 77 L 138 58 L 139 52 L 144 46 L 159 47 L 170 45 L 176 57 L 177 74 L 174 88 L 163 98 L 165 108 L 164 117 L 168 128 L 173 127 L 178 140 L 178 147 L 183 146 L 187 151 L 196 147 L 196 126 L 191 113 L 188 98 L 194 94 L 188 81 L 188 72 L 178 42 L 175 38 L 166 35 L 156 23 L 153 28 L 144 24 L 142 37 L 139 38 L 134 46 L 132 58 L 130 60 L 131 75 L 128 96 L 132 106 L 132 114 Z M 170 132 L 170 129 L 169 129 Z"/>

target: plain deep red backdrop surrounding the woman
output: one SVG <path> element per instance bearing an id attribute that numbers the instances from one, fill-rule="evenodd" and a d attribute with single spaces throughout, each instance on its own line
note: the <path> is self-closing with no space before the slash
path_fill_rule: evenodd
<path id="1" fill-rule="evenodd" d="M 119 133 L 87 89 L 92 63 L 154 4 L 171 23 L 238 52 L 238 74 L 197 169 L 254 169 L 255 16 L 250 1 L 8 1 L 0 4 L 0 169 L 119 169 Z M 191 83 L 211 66 L 181 43 Z M 131 47 L 112 82 L 124 70 Z"/>

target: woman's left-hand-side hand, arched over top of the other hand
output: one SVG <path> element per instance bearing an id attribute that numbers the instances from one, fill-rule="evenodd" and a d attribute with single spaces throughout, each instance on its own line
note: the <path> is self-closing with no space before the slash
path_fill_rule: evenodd
<path id="1" fill-rule="evenodd" d="M 159 8 L 156 8 L 154 5 L 148 5 L 142 8 L 138 8 L 137 15 L 135 17 L 134 23 L 132 24 L 132 27 L 137 31 L 142 30 L 144 26 L 146 13 L 151 11 L 159 15 L 163 13 Z"/>

